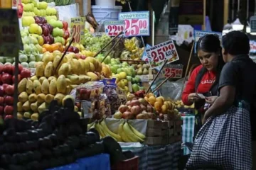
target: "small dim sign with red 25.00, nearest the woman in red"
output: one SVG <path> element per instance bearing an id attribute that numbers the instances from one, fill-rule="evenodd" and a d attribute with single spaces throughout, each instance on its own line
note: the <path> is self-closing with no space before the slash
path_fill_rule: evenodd
<path id="1" fill-rule="evenodd" d="M 183 65 L 181 64 L 167 64 L 163 69 L 164 77 L 174 79 L 181 79 L 183 73 Z"/>

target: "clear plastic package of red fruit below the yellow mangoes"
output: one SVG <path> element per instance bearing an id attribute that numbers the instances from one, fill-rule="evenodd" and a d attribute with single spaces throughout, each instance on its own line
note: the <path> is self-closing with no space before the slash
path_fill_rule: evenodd
<path id="1" fill-rule="evenodd" d="M 77 100 L 91 100 L 102 94 L 104 84 L 100 81 L 90 81 L 82 86 L 78 86 L 75 92 Z"/>

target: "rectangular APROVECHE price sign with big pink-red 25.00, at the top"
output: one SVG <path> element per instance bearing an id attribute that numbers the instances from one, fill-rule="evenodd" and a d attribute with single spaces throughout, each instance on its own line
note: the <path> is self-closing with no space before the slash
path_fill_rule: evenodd
<path id="1" fill-rule="evenodd" d="M 149 36 L 149 11 L 119 13 L 119 20 L 125 23 L 127 37 Z"/>

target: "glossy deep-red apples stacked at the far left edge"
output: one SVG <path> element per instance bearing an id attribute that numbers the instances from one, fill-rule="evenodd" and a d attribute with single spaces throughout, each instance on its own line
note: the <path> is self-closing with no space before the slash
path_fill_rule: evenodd
<path id="1" fill-rule="evenodd" d="M 14 66 L 0 64 L 0 115 L 10 118 L 14 112 Z M 18 64 L 18 82 L 31 77 L 31 71 Z"/>

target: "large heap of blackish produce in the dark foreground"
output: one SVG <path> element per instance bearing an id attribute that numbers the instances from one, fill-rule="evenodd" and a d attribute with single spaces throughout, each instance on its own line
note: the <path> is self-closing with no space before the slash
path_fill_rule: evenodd
<path id="1" fill-rule="evenodd" d="M 105 149 L 113 143 L 119 146 L 111 137 L 100 140 L 96 130 L 86 132 L 71 99 L 64 105 L 53 101 L 38 121 L 0 117 L 0 169 L 43 170 L 95 154 L 107 153 L 112 158 L 112 153 L 121 152 L 120 147 Z"/>

